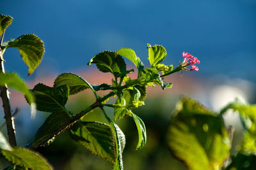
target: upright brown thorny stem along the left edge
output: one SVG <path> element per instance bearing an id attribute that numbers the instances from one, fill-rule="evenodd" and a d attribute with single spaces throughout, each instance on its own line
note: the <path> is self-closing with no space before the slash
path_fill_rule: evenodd
<path id="1" fill-rule="evenodd" d="M 3 42 L 3 37 L 4 33 L 2 35 L 1 41 L 0 41 L 0 46 L 2 46 Z M 4 71 L 4 59 L 3 59 L 3 50 L 0 49 L 0 73 Z M 15 139 L 15 129 L 14 129 L 14 123 L 12 119 L 12 112 L 11 112 L 11 105 L 10 105 L 10 99 L 8 95 L 8 89 L 7 85 L 0 86 L 0 92 L 1 92 L 1 98 L 3 101 L 3 108 L 4 108 L 4 118 L 6 122 L 6 127 L 7 127 L 7 133 L 8 133 L 8 138 L 11 146 L 17 146 L 16 139 Z"/>

